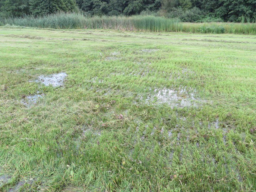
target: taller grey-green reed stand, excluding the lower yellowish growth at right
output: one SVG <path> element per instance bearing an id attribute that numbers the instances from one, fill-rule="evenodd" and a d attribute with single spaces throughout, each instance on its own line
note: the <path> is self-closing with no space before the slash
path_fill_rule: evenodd
<path id="1" fill-rule="evenodd" d="M 77 13 L 55 13 L 43 17 L 1 18 L 3 24 L 54 29 L 111 29 L 123 31 L 182 31 L 179 19 L 154 16 L 94 16 Z"/>

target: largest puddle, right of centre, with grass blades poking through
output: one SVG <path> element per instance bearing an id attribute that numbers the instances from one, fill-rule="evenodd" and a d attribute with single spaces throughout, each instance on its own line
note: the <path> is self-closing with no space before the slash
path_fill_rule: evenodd
<path id="1" fill-rule="evenodd" d="M 146 99 L 146 102 L 155 101 L 154 97 L 156 97 L 157 103 L 167 103 L 171 108 L 174 107 L 198 107 L 199 104 L 206 102 L 206 100 L 202 100 L 200 98 L 195 98 L 194 92 L 188 93 L 185 89 L 181 89 L 180 91 L 175 91 L 173 89 L 155 89 L 156 93 L 153 97 L 149 97 Z"/>

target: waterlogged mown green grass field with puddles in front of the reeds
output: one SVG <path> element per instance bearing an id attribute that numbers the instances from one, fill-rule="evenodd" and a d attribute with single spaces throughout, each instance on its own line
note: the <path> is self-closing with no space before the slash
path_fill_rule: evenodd
<path id="1" fill-rule="evenodd" d="M 0 28 L 0 50 L 0 191 L 256 191 L 256 36 Z"/>

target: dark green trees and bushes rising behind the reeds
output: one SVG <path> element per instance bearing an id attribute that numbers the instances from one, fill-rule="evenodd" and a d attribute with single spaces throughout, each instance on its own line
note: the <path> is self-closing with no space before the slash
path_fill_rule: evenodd
<path id="1" fill-rule="evenodd" d="M 238 22 L 243 16 L 255 21 L 256 0 L 0 0 L 0 17 L 42 16 L 59 11 L 88 16 L 149 14 L 178 17 L 185 22 Z"/>

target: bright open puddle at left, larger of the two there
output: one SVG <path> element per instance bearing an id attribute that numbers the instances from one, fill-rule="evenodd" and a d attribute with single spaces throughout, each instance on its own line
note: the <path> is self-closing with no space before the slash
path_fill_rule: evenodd
<path id="1" fill-rule="evenodd" d="M 66 76 L 67 76 L 66 73 L 57 73 L 49 76 L 41 75 L 38 77 L 38 80 L 36 80 L 35 82 L 43 83 L 46 86 L 52 85 L 53 87 L 57 87 L 57 86 L 63 85 L 63 80 Z"/>

